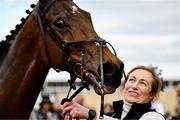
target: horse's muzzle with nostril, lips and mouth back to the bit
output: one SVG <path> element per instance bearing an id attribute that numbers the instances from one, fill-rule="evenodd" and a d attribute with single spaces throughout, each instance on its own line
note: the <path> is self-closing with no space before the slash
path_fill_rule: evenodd
<path id="1" fill-rule="evenodd" d="M 97 72 L 95 72 L 95 70 L 90 69 L 89 66 L 86 66 L 86 69 L 84 69 L 81 66 L 81 64 L 77 64 L 76 69 L 76 72 L 79 71 L 79 76 L 81 76 L 81 79 L 84 81 L 89 81 L 90 84 L 94 87 L 94 90 L 97 94 L 112 94 L 115 92 L 116 88 L 118 88 L 121 84 L 124 64 L 118 66 L 111 62 L 104 63 L 103 84 L 101 80 L 100 66 L 98 67 Z"/>

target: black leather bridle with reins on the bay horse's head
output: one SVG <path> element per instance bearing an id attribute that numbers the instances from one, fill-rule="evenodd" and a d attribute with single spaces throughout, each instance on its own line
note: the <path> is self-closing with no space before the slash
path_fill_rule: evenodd
<path id="1" fill-rule="evenodd" d="M 103 114 L 104 114 L 104 110 L 103 110 L 103 106 L 104 106 L 104 75 L 103 75 L 103 47 L 106 46 L 106 44 L 109 44 L 111 46 L 111 48 L 113 49 L 113 52 L 116 55 L 115 49 L 114 47 L 107 42 L 106 40 L 102 39 L 102 38 L 97 38 L 97 39 L 88 39 L 88 40 L 78 40 L 78 41 L 65 41 L 63 39 L 63 37 L 58 36 L 56 31 L 51 27 L 51 25 L 47 22 L 47 20 L 44 19 L 45 17 L 45 13 L 48 11 L 48 9 L 52 6 L 52 4 L 55 2 L 56 0 L 49 0 L 47 5 L 42 9 L 42 7 L 40 6 L 40 4 L 37 4 L 36 7 L 36 12 L 37 12 L 37 19 L 38 19 L 38 24 L 40 26 L 40 32 L 41 32 L 41 40 L 44 44 L 44 48 L 45 48 L 45 52 L 46 52 L 46 56 L 49 62 L 49 65 L 55 69 L 57 72 L 59 71 L 59 69 L 54 68 L 52 65 L 52 60 L 50 57 L 50 53 L 49 53 L 49 47 L 47 44 L 47 38 L 45 35 L 45 31 L 48 33 L 48 35 L 52 38 L 53 42 L 58 46 L 59 49 L 61 49 L 63 51 L 63 55 L 65 57 L 65 59 L 67 60 L 67 64 L 68 64 L 68 72 L 70 73 L 70 80 L 68 80 L 69 85 L 70 85 L 70 90 L 68 92 L 67 97 L 62 101 L 62 104 L 66 101 L 71 101 L 73 99 L 73 97 L 75 97 L 79 92 L 81 92 L 84 88 L 88 89 L 88 85 L 92 82 L 92 75 L 89 74 L 87 72 L 86 69 L 82 68 L 82 72 L 83 72 L 83 76 L 84 79 L 86 80 L 86 82 L 83 84 L 82 87 L 80 87 L 70 98 L 69 98 L 69 93 L 71 91 L 71 89 L 76 89 L 75 88 L 75 80 L 77 77 L 79 77 L 76 74 L 76 71 L 74 70 L 74 67 L 76 63 L 72 58 L 71 58 L 71 53 L 68 50 L 68 47 L 71 45 L 89 45 L 89 44 L 99 44 L 99 56 L 100 56 L 100 76 L 101 76 L 101 85 L 98 86 L 101 89 L 101 110 L 100 110 L 100 118 L 103 119 Z M 124 74 L 125 75 L 125 74 Z"/>

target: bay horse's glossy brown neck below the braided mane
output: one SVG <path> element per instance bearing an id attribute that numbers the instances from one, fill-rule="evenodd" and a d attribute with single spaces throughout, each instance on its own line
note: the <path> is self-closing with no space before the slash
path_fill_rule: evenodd
<path id="1" fill-rule="evenodd" d="M 26 118 L 42 88 L 49 67 L 43 63 L 37 49 L 37 27 L 31 16 L 1 65 L 0 116 Z"/>

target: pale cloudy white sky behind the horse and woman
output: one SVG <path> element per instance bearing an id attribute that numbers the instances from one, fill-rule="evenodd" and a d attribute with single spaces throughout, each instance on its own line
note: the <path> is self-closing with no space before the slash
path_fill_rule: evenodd
<path id="1" fill-rule="evenodd" d="M 36 0 L 0 1 L 0 40 L 26 17 Z M 74 0 L 91 13 L 94 28 L 124 63 L 125 71 L 152 64 L 164 79 L 180 79 L 180 0 Z M 58 76 L 58 77 L 57 77 Z M 51 70 L 47 79 L 68 78 Z"/>

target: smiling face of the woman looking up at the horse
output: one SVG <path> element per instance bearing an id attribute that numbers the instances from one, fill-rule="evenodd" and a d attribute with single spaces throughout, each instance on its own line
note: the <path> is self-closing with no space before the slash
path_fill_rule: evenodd
<path id="1" fill-rule="evenodd" d="M 130 73 L 124 86 L 124 99 L 129 103 L 148 103 L 153 97 L 151 94 L 153 78 L 150 72 L 136 69 Z"/>

